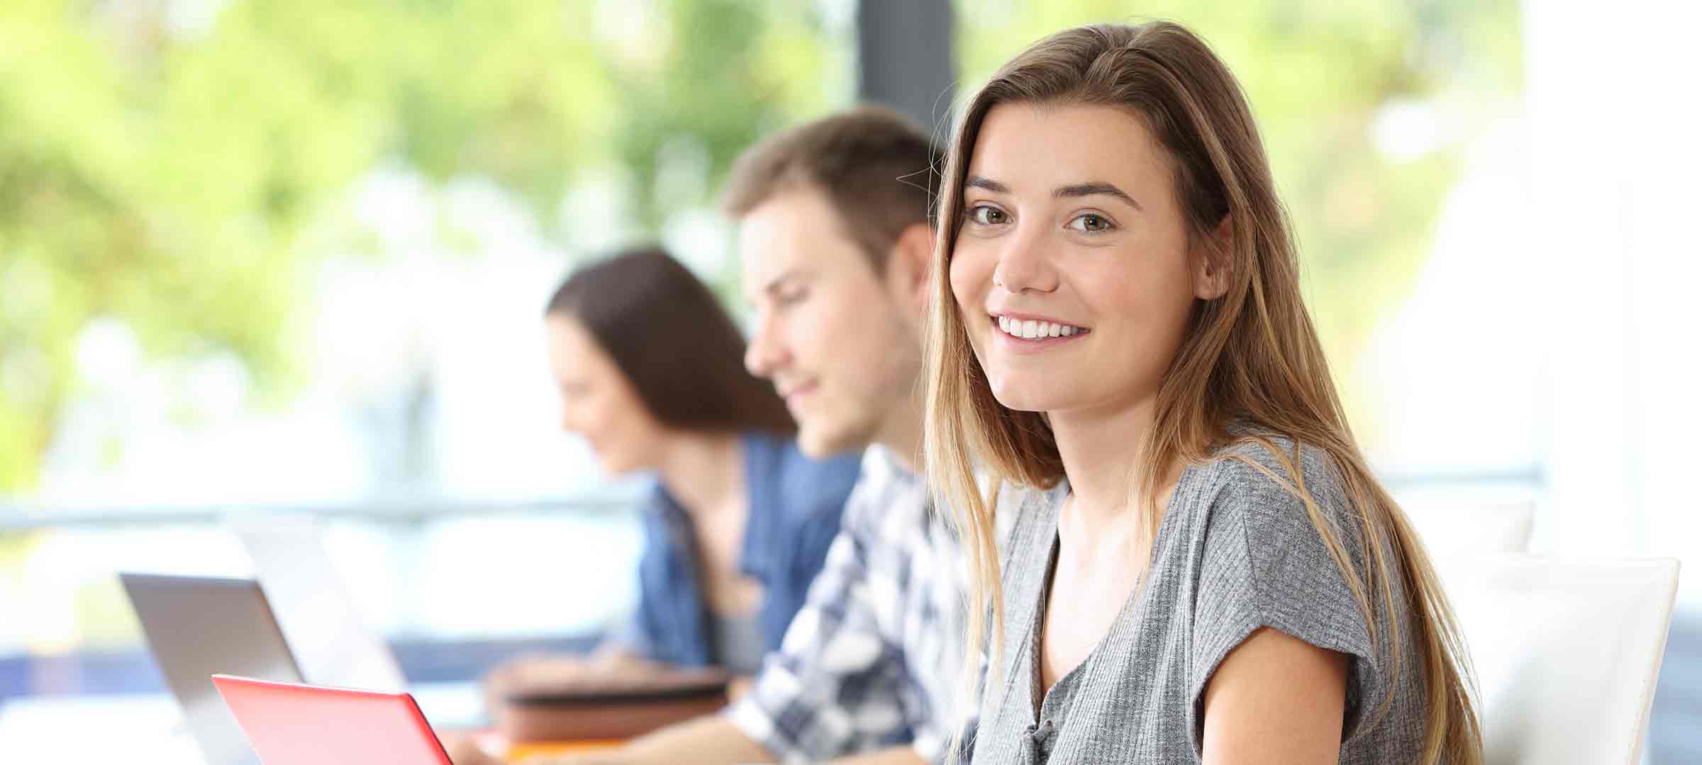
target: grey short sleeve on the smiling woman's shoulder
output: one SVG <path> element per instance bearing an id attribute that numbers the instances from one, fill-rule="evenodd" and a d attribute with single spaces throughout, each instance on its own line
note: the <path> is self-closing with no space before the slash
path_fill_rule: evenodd
<path id="1" fill-rule="evenodd" d="M 1253 459 L 1292 483 L 1288 471 L 1268 452 L 1259 450 Z M 1302 464 L 1307 493 L 1363 581 L 1356 524 L 1334 468 L 1322 452 L 1312 450 L 1304 452 Z M 1234 457 L 1219 462 L 1219 473 L 1195 590 L 1190 651 L 1195 751 L 1203 734 L 1205 687 L 1212 673 L 1229 651 L 1261 627 L 1351 656 L 1343 731 L 1345 740 L 1351 738 L 1360 700 L 1382 694 L 1380 663 L 1360 600 L 1299 496 Z"/>

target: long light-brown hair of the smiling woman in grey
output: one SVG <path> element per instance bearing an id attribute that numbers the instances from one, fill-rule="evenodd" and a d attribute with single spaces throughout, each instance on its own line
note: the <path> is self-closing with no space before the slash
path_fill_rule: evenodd
<path id="1" fill-rule="evenodd" d="M 1117 105 L 1139 116 L 1171 158 L 1190 243 L 1229 267 L 1229 291 L 1195 303 L 1157 393 L 1142 464 L 1130 466 L 1139 495 L 1147 498 L 1145 539 L 1156 537 L 1162 520 L 1156 498 L 1171 466 L 1208 461 L 1236 442 L 1265 445 L 1290 479 L 1248 462 L 1305 503 L 1360 602 L 1374 646 L 1392 658 L 1394 675 L 1402 672 L 1397 610 L 1411 614 L 1408 638 L 1418 643 L 1416 672 L 1425 685 L 1423 760 L 1482 762 L 1464 639 L 1418 534 L 1353 440 L 1300 296 L 1292 230 L 1253 112 L 1229 68 L 1200 37 L 1171 22 L 1096 24 L 1045 37 L 1006 63 L 968 100 L 957 126 L 934 253 L 926 452 L 928 474 L 953 508 L 970 559 L 967 666 L 977 666 L 987 632 L 997 651 L 1004 631 L 992 507 L 997 490 L 984 496 L 975 468 L 1026 486 L 1054 486 L 1064 478 L 1045 415 L 1004 408 L 992 396 L 946 277 L 963 219 L 970 151 L 987 112 L 1008 102 Z M 1219 246 L 1212 231 L 1225 221 L 1231 236 Z M 1292 440 L 1294 452 L 1283 454 L 1270 435 Z M 1300 444 L 1324 450 L 1343 476 L 1368 561 L 1363 578 L 1305 490 Z M 1377 716 L 1392 695 L 1394 683 Z"/>

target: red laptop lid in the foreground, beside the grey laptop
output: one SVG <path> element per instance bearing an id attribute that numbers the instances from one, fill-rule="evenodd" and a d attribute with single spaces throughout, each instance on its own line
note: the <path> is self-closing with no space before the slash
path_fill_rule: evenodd
<path id="1" fill-rule="evenodd" d="M 407 694 L 213 675 L 266 765 L 449 765 Z"/>

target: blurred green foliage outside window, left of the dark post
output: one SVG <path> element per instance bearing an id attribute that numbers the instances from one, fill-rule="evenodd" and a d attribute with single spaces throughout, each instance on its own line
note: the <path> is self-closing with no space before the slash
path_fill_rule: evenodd
<path id="1" fill-rule="evenodd" d="M 745 0 L 7 0 L 0 491 L 32 484 L 97 318 L 150 359 L 288 396 L 315 264 L 380 163 L 487 177 L 560 235 L 592 168 L 637 230 L 708 202 L 761 131 L 829 104 L 819 15 Z M 844 76 L 839 76 L 844 80 Z M 660 189 L 671 146 L 696 189 Z"/>

